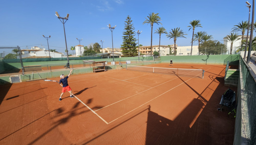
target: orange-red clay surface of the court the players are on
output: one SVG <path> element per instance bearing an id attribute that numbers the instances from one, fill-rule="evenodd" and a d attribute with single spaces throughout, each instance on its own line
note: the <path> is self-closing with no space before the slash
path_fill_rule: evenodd
<path id="1" fill-rule="evenodd" d="M 2 85 L 0 144 L 232 145 L 235 120 L 217 110 L 228 89 L 225 66 L 168 65 L 148 66 L 206 72 L 204 79 L 125 69 L 71 75 L 76 97 L 61 101 L 56 82 Z"/>

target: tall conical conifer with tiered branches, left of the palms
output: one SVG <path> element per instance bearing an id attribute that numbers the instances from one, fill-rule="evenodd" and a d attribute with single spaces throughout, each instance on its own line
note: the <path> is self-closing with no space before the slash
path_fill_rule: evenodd
<path id="1" fill-rule="evenodd" d="M 133 24 L 131 24 L 132 20 L 129 15 L 125 21 L 125 32 L 123 32 L 123 45 L 121 45 L 123 57 L 135 57 L 138 56 L 138 50 L 136 49 L 136 39 L 134 36 L 136 35 L 133 31 L 135 28 Z"/>

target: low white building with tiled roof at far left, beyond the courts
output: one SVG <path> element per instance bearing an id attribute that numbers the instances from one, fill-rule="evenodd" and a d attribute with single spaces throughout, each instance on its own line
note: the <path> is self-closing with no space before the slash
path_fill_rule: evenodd
<path id="1" fill-rule="evenodd" d="M 63 53 L 59 53 L 59 52 L 50 52 L 50 57 L 51 58 L 61 58 L 61 57 L 65 57 L 65 55 Z M 17 56 L 17 59 L 19 59 L 20 57 Z M 23 54 L 21 55 L 21 58 L 49 58 L 49 51 L 47 50 L 42 50 L 42 51 L 36 51 L 34 53 L 29 53 L 29 54 Z"/>

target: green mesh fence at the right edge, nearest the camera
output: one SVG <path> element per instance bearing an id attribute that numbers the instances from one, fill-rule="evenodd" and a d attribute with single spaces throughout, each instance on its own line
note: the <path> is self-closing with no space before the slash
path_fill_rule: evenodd
<path id="1" fill-rule="evenodd" d="M 241 83 L 240 90 L 242 93 L 238 94 L 238 106 L 241 104 L 241 118 L 236 119 L 237 121 L 241 120 L 241 137 L 246 139 L 248 145 L 256 144 L 256 81 L 255 74 L 251 72 L 250 68 L 245 61 L 240 58 L 241 64 Z M 239 92 L 239 91 L 238 91 Z M 241 95 L 242 94 L 242 95 Z M 239 99 L 241 97 L 241 99 Z M 240 111 L 239 111 L 240 112 Z M 238 114 L 240 117 L 240 114 Z M 236 126 L 237 128 L 237 126 Z M 234 144 L 240 144 L 241 140 L 236 141 L 236 133 Z"/>

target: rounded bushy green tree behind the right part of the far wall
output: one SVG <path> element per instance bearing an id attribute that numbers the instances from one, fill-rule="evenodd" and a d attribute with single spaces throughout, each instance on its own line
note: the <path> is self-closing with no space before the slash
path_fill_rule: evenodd
<path id="1" fill-rule="evenodd" d="M 218 40 L 209 40 L 202 42 L 198 49 L 204 55 L 219 55 L 221 53 L 227 52 L 227 46 L 225 44 L 220 43 Z"/>

